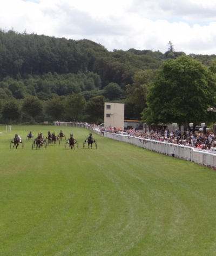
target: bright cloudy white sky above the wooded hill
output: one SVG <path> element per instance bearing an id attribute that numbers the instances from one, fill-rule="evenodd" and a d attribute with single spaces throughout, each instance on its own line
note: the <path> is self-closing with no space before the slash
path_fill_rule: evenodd
<path id="1" fill-rule="evenodd" d="M 107 50 L 216 54 L 216 1 L 1 0 L 0 28 L 89 39 Z"/>

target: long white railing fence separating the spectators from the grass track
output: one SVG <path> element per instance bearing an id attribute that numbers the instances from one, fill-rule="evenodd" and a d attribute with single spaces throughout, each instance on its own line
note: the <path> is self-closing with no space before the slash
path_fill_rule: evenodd
<path id="1" fill-rule="evenodd" d="M 57 122 L 54 123 L 55 125 L 57 125 Z M 132 145 L 139 146 L 140 148 L 143 149 L 149 149 L 154 152 L 163 153 L 167 156 L 177 157 L 201 165 L 216 167 L 216 149 L 204 151 L 183 145 L 157 142 L 156 140 L 140 139 L 138 137 L 118 135 L 116 133 L 111 132 L 100 132 L 88 124 L 60 122 L 60 126 L 83 127 L 97 133 L 100 136 L 118 140 L 119 142 L 130 143 Z"/>

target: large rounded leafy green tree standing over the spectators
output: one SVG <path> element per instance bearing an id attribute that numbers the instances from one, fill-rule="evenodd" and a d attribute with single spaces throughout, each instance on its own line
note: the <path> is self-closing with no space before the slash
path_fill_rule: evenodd
<path id="1" fill-rule="evenodd" d="M 147 94 L 143 121 L 151 124 L 204 123 L 215 101 L 215 79 L 200 62 L 188 56 L 161 65 Z"/>

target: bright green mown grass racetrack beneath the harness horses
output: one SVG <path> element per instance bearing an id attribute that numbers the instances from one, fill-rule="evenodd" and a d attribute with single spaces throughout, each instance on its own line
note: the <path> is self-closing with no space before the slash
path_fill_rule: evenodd
<path id="1" fill-rule="evenodd" d="M 79 149 L 25 141 L 60 129 Z M 95 134 L 83 149 L 76 127 L 0 131 L 0 255 L 216 255 L 214 170 Z"/>

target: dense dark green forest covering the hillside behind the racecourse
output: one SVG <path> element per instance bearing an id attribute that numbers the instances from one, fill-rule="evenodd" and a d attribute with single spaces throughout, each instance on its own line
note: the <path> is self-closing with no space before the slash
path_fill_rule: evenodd
<path id="1" fill-rule="evenodd" d="M 86 39 L 0 30 L 0 122 L 102 122 L 104 101 L 123 102 L 125 118 L 140 119 L 157 69 L 183 55 L 172 48 L 109 52 Z M 216 60 L 189 56 L 205 66 Z"/>

